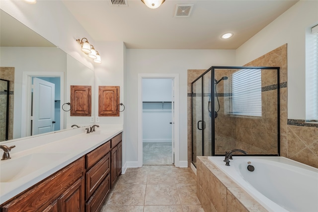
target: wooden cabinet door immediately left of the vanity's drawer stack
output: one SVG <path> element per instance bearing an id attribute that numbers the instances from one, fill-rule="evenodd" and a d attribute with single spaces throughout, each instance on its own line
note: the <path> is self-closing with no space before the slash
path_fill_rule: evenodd
<path id="1" fill-rule="evenodd" d="M 81 177 L 59 198 L 59 212 L 84 212 L 84 193 L 85 181 Z"/>

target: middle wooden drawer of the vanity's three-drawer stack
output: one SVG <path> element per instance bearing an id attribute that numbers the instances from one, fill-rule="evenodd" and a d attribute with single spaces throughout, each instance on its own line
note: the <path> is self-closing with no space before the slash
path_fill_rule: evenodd
<path id="1" fill-rule="evenodd" d="M 86 172 L 86 200 L 94 193 L 110 171 L 110 153 Z"/>

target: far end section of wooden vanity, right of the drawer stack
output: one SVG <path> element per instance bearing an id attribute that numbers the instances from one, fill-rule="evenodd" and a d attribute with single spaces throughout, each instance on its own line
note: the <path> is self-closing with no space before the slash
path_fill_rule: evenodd
<path id="1" fill-rule="evenodd" d="M 121 175 L 122 166 L 122 134 L 118 134 L 110 140 L 110 188 L 113 188 L 117 177 Z"/>

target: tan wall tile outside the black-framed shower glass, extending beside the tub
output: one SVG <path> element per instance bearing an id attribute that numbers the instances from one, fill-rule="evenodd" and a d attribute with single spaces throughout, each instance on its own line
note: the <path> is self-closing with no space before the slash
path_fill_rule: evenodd
<path id="1" fill-rule="evenodd" d="M 246 64 L 249 67 L 280 67 L 280 153 L 281 156 L 318 168 L 318 125 L 305 120 L 287 120 L 287 44 Z M 205 70 L 188 70 L 188 164 L 191 149 L 191 82 Z M 288 123 L 287 123 L 288 121 Z"/>

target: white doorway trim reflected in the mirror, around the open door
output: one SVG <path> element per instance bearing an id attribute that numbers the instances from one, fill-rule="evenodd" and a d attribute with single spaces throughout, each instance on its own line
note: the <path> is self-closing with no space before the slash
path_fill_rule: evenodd
<path id="1" fill-rule="evenodd" d="M 55 71 L 23 71 L 22 73 L 22 105 L 25 107 L 21 111 L 21 137 L 31 135 L 31 122 L 28 111 L 31 111 L 31 91 L 32 91 L 32 77 L 60 77 L 61 90 L 60 95 L 61 101 L 64 101 L 64 72 Z M 64 129 L 64 113 L 60 114 L 61 124 L 60 129 Z"/>

